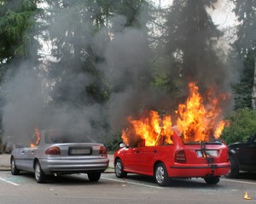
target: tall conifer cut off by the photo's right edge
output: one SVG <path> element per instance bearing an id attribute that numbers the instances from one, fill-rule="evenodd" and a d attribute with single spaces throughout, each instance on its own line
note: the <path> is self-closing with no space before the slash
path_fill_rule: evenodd
<path id="1" fill-rule="evenodd" d="M 244 63 L 241 84 L 249 88 L 247 90 L 247 98 L 252 99 L 253 96 L 251 105 L 247 105 L 247 107 L 255 109 L 256 84 L 255 81 L 253 82 L 253 76 L 256 70 L 256 2 L 253 0 L 236 0 L 234 2 L 236 5 L 234 12 L 239 21 L 234 48 L 236 48 L 238 54 L 240 54 L 241 61 Z"/>

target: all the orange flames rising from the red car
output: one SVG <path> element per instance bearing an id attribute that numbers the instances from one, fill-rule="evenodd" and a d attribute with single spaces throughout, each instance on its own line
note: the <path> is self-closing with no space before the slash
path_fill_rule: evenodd
<path id="1" fill-rule="evenodd" d="M 225 100 L 226 95 L 218 98 L 210 88 L 203 98 L 195 82 L 189 83 L 189 97 L 186 103 L 178 105 L 177 121 L 172 122 L 172 116 L 160 116 L 157 111 L 145 111 L 139 119 L 127 117 L 130 127 L 123 129 L 122 139 L 128 145 L 146 146 L 160 143 L 172 144 L 173 126 L 183 137 L 184 142 L 208 141 L 218 139 L 228 122 L 222 119 L 219 101 Z"/>

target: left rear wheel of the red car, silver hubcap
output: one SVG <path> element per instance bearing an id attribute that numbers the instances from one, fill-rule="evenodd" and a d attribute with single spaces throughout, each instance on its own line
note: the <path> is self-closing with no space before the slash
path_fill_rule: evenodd
<path id="1" fill-rule="evenodd" d="M 154 180 L 156 184 L 160 186 L 165 186 L 168 184 L 169 177 L 166 171 L 166 166 L 163 163 L 159 163 L 154 168 Z"/>

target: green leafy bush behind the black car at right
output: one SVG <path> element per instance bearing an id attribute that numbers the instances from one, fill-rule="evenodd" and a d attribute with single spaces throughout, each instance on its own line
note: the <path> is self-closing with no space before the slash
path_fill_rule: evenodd
<path id="1" fill-rule="evenodd" d="M 256 111 L 240 109 L 231 113 L 227 119 L 230 120 L 230 127 L 225 127 L 221 135 L 227 144 L 245 141 L 256 133 Z"/>

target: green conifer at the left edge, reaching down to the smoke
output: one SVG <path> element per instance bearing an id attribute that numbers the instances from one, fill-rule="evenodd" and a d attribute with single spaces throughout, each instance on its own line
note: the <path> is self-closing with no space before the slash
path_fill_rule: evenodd
<path id="1" fill-rule="evenodd" d="M 32 65 L 38 64 L 40 45 L 36 30 L 40 27 L 37 20 L 42 14 L 42 10 L 38 8 L 39 2 L 39 0 L 0 1 L 1 116 L 5 103 L 3 83 L 9 80 L 5 76 L 6 72 L 15 73 L 21 62 L 26 59 L 31 59 Z M 6 81 L 3 80 L 4 77 Z"/>

